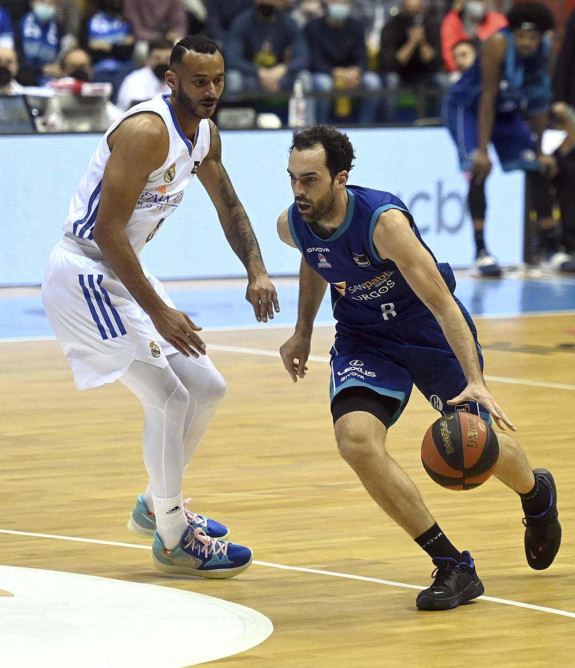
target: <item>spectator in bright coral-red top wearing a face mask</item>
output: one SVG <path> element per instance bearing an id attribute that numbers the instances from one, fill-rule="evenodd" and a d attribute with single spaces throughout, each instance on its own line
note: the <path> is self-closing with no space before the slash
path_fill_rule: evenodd
<path id="1" fill-rule="evenodd" d="M 490 9 L 490 0 L 455 0 L 441 23 L 441 55 L 445 71 L 457 71 L 453 47 L 460 41 L 477 43 L 485 41 L 508 21 L 503 14 Z"/>

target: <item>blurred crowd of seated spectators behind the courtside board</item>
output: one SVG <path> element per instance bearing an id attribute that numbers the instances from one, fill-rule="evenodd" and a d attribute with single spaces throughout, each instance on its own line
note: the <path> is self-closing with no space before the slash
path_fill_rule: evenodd
<path id="1" fill-rule="evenodd" d="M 296 91 L 305 117 L 290 124 L 394 123 L 415 92 L 420 114 L 439 116 L 479 43 L 507 24 L 512 0 L 495 1 L 0 0 L 0 95 L 25 93 L 40 130 L 106 130 L 170 92 L 172 45 L 202 32 L 226 59 L 224 107 L 249 100 L 287 114 Z M 570 104 L 574 33 L 571 17 L 556 77 L 556 98 Z"/>

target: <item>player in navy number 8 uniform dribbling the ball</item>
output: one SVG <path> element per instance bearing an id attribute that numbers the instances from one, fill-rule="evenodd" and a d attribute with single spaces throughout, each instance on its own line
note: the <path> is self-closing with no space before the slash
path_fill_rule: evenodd
<path id="1" fill-rule="evenodd" d="M 354 154 L 347 136 L 314 126 L 295 131 L 288 172 L 295 203 L 278 234 L 302 254 L 299 311 L 280 354 L 294 382 L 305 377 L 313 321 L 331 289 L 337 320 L 331 350 L 331 412 L 339 452 L 383 510 L 433 560 L 437 571 L 417 597 L 445 610 L 484 593 L 467 551 L 459 552 L 387 454 L 387 430 L 413 384 L 443 414 L 467 410 L 502 430 L 514 426 L 487 389 L 477 332 L 453 296 L 449 265 L 437 264 L 411 214 L 389 192 L 347 184 Z M 498 433 L 495 471 L 520 494 L 532 568 L 548 568 L 560 545 L 555 482 L 529 466 L 516 441 Z"/>

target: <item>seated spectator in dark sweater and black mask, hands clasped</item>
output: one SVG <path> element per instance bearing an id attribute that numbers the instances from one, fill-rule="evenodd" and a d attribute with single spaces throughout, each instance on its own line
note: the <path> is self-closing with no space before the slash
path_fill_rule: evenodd
<path id="1" fill-rule="evenodd" d="M 229 93 L 291 90 L 297 78 L 304 92 L 311 89 L 303 31 L 282 7 L 284 0 L 254 0 L 234 19 L 226 47 L 234 68 L 226 72 Z"/>

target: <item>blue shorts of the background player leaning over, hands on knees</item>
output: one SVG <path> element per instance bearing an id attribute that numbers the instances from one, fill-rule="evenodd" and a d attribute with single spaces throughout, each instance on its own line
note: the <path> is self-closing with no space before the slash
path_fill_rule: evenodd
<path id="1" fill-rule="evenodd" d="M 457 147 L 461 170 L 469 171 L 478 146 L 475 112 L 447 101 L 443 105 L 443 122 Z M 492 144 L 504 172 L 538 169 L 534 133 L 520 112 L 496 117 Z"/>

